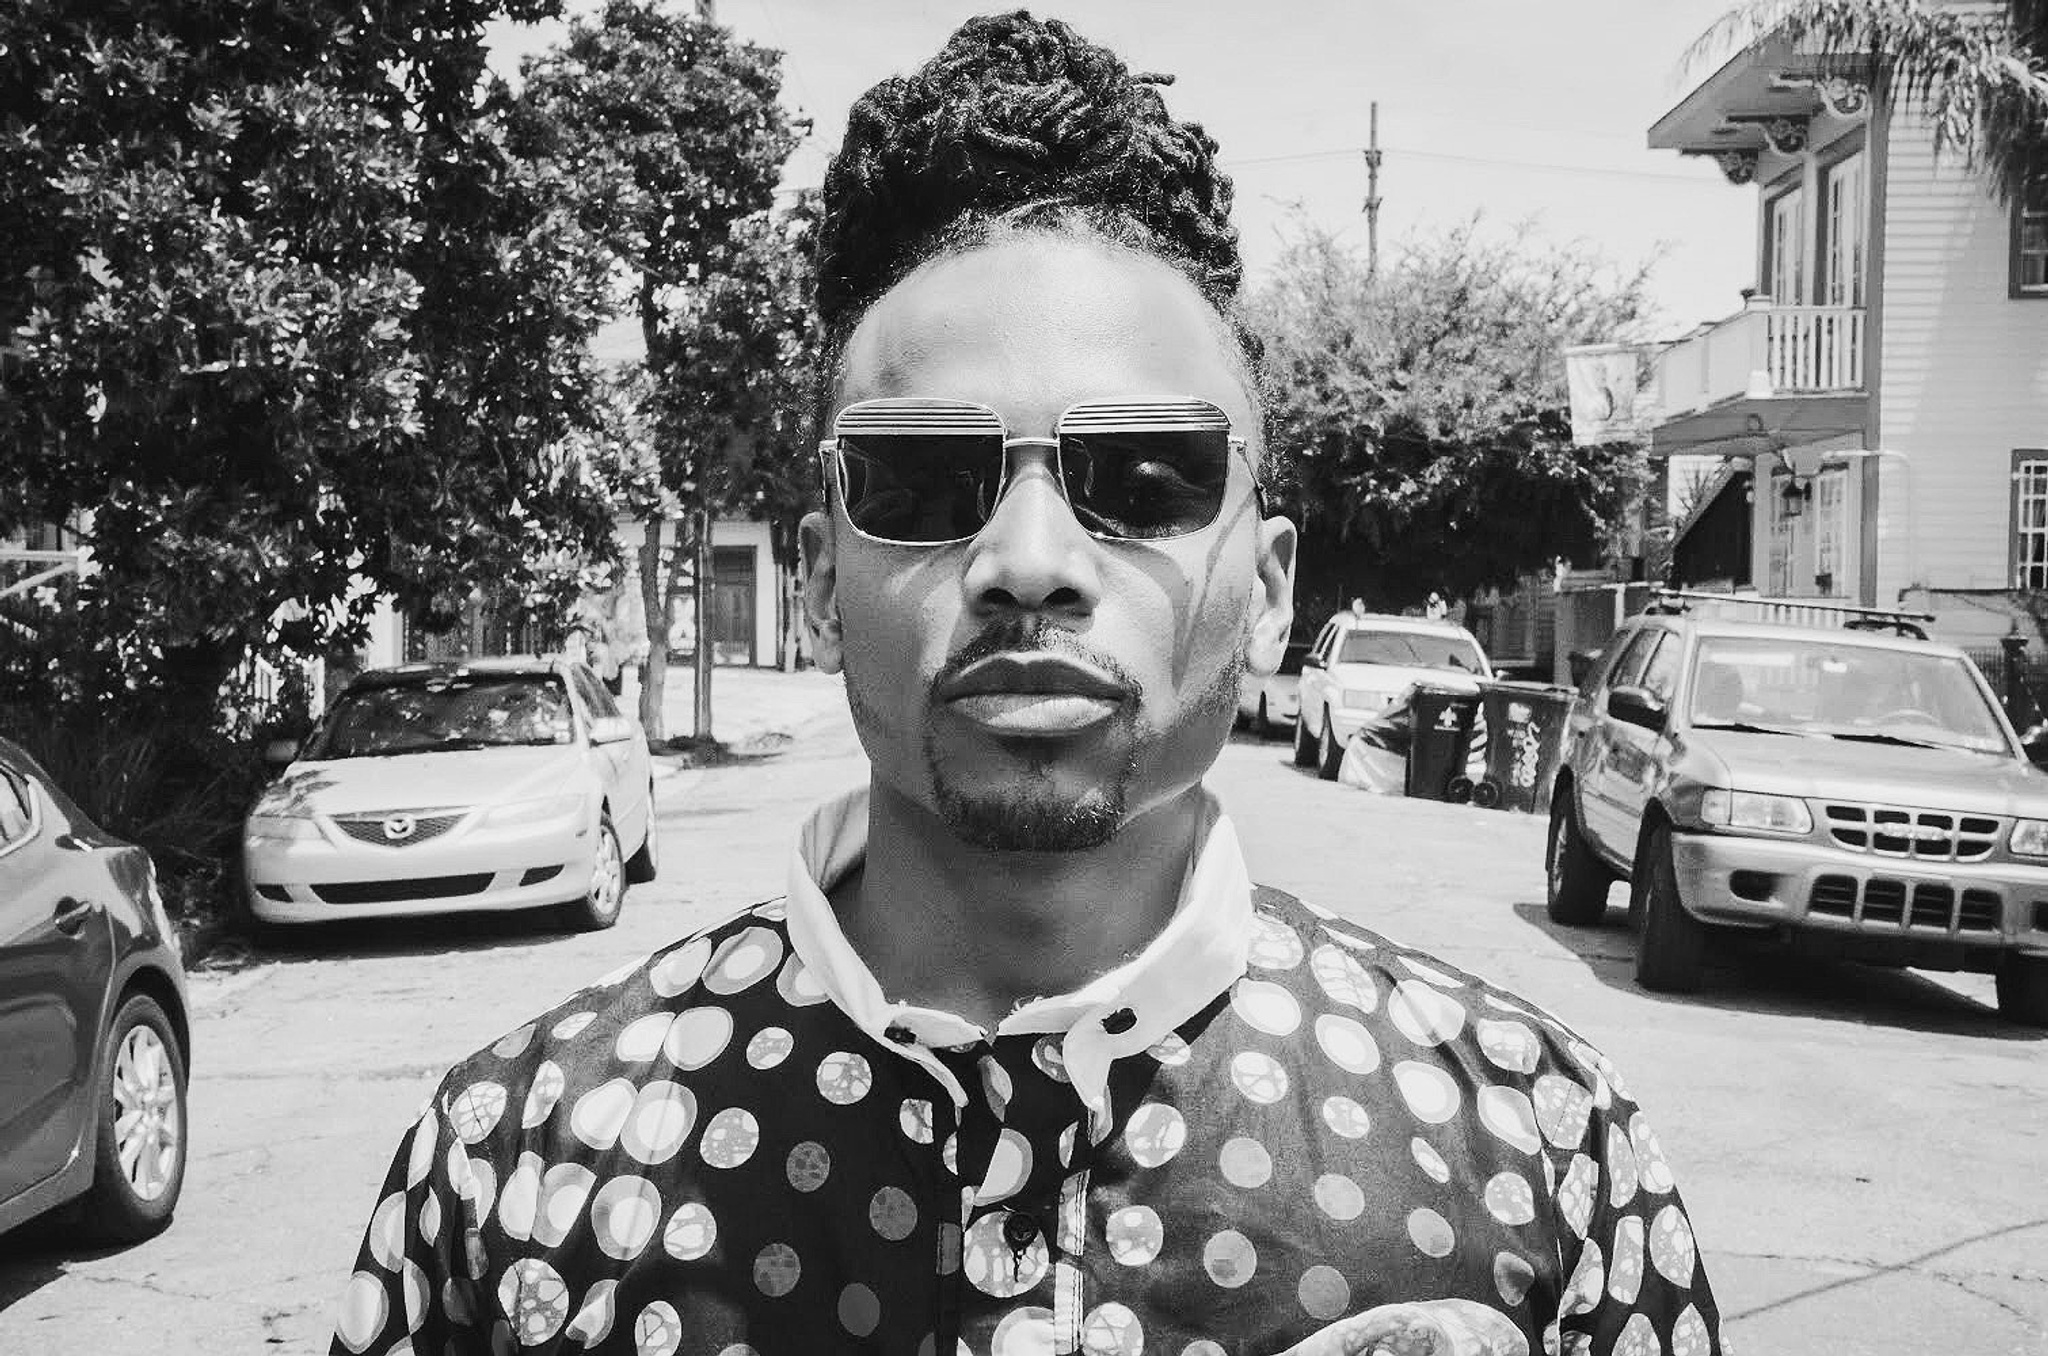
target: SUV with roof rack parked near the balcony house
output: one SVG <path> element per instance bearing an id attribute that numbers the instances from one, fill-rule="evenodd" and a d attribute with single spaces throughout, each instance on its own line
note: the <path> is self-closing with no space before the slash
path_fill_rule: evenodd
<path id="1" fill-rule="evenodd" d="M 1647 615 L 1573 705 L 1548 909 L 1628 881 L 1636 979 L 1694 989 L 1714 928 L 1997 975 L 2048 1024 L 2048 774 L 1956 647 Z"/>

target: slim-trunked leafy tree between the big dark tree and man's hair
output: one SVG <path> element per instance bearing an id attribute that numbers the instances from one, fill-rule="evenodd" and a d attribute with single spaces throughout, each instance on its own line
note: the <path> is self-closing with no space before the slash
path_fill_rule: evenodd
<path id="1" fill-rule="evenodd" d="M 709 524 L 745 481 L 741 449 L 754 447 L 762 418 L 752 406 L 780 375 L 752 363 L 784 346 L 780 305 L 750 313 L 774 295 L 776 236 L 766 215 L 801 137 L 778 102 L 780 53 L 653 0 L 608 0 L 524 74 L 526 152 L 582 184 L 582 219 L 641 324 L 655 459 L 688 510 L 668 569 L 698 561 L 696 733 L 709 737 Z M 645 522 L 641 723 L 659 739 L 670 590 L 662 516 Z"/>

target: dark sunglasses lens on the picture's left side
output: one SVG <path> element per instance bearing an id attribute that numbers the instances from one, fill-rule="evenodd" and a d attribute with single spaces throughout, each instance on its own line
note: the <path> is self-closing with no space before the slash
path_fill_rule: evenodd
<path id="1" fill-rule="evenodd" d="M 936 543 L 973 537 L 995 510 L 1001 434 L 842 434 L 846 516 L 868 537 Z"/>

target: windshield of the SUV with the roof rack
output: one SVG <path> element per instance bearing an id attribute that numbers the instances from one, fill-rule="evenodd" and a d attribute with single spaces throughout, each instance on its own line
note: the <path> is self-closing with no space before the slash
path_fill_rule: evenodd
<path id="1" fill-rule="evenodd" d="M 1706 637 L 1692 723 L 2009 752 L 1966 660 L 1817 639 Z"/>

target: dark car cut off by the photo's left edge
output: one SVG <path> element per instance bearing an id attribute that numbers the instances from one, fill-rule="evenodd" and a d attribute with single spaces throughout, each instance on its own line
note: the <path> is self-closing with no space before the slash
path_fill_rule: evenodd
<path id="1" fill-rule="evenodd" d="M 0 739 L 0 1231 L 158 1233 L 184 1186 L 184 969 L 150 854 Z"/>

